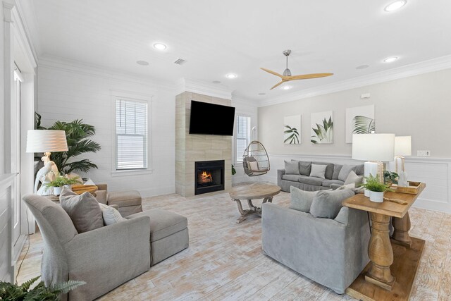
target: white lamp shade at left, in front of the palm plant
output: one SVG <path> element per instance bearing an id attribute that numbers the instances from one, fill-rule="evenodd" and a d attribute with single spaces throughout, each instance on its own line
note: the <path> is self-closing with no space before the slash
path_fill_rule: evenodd
<path id="1" fill-rule="evenodd" d="M 28 130 L 27 152 L 66 152 L 68 142 L 63 130 Z"/>

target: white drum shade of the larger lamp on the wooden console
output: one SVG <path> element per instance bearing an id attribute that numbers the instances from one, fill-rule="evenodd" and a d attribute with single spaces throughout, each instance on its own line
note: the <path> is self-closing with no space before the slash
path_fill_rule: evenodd
<path id="1" fill-rule="evenodd" d="M 393 161 L 395 134 L 352 135 L 352 159 L 365 161 Z"/>

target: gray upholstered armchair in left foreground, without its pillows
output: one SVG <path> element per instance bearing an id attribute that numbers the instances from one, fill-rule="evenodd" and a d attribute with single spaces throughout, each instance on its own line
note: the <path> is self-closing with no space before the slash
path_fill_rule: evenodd
<path id="1" fill-rule="evenodd" d="M 137 216 L 80 233 L 61 206 L 39 195 L 23 197 L 44 240 L 41 274 L 46 285 L 85 281 L 68 300 L 93 300 L 150 268 L 150 219 Z"/>

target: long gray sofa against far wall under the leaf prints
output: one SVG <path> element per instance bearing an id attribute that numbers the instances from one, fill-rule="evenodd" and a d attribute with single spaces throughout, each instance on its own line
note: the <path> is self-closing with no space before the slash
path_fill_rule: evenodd
<path id="1" fill-rule="evenodd" d="M 290 163 L 299 164 L 299 170 L 294 171 Z M 326 165 L 326 172 L 324 178 L 318 178 L 310 176 L 311 164 Z M 277 170 L 277 185 L 280 186 L 282 191 L 290 192 L 290 186 L 306 190 L 329 190 L 330 188 L 337 188 L 345 183 L 346 176 L 349 173 L 341 173 L 342 168 L 345 166 L 347 171 L 354 171 L 357 176 L 363 176 L 364 164 L 356 166 L 333 164 L 328 162 L 311 162 L 311 161 L 285 161 L 285 168 Z M 343 170 L 344 171 L 344 170 Z"/>

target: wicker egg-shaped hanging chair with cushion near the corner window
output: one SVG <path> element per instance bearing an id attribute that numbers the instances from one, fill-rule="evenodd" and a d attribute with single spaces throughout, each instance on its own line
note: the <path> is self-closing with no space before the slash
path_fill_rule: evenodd
<path id="1" fill-rule="evenodd" d="M 247 145 L 242 155 L 242 167 L 247 176 L 261 176 L 269 171 L 269 157 L 265 147 L 258 141 Z"/>

